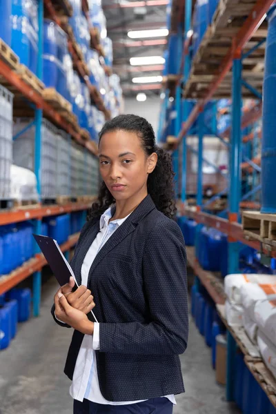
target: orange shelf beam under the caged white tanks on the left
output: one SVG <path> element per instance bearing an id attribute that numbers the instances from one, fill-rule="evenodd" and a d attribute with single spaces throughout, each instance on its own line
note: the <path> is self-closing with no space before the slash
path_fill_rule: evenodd
<path id="1" fill-rule="evenodd" d="M 90 203 L 70 203 L 63 206 L 39 206 L 32 208 L 23 207 L 15 210 L 7 210 L 0 212 L 0 226 L 6 224 L 18 223 L 19 221 L 26 221 L 30 219 L 41 219 L 42 217 L 49 217 L 51 215 L 60 215 L 64 213 L 72 213 L 74 211 L 88 210 L 91 207 Z"/>

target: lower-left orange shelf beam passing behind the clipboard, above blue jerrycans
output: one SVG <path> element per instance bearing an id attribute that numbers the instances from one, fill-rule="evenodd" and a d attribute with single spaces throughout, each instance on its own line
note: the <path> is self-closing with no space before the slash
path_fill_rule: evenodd
<path id="1" fill-rule="evenodd" d="M 61 251 L 65 252 L 75 246 L 78 239 L 79 233 L 72 235 L 67 242 L 61 245 Z M 46 265 L 46 263 L 46 259 L 41 253 L 28 260 L 28 262 L 24 263 L 19 268 L 15 269 L 12 273 L 10 273 L 10 275 L 0 277 L 0 295 L 8 292 L 8 290 L 12 289 L 14 286 L 17 286 L 17 284 L 22 282 L 24 279 L 27 279 L 27 277 L 32 275 L 32 273 L 40 270 Z"/>

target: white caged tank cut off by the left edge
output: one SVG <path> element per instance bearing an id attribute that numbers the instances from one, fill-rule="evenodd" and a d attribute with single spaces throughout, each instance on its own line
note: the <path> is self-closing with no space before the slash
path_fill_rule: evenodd
<path id="1" fill-rule="evenodd" d="M 10 199 L 13 95 L 0 86 L 0 200 Z"/>

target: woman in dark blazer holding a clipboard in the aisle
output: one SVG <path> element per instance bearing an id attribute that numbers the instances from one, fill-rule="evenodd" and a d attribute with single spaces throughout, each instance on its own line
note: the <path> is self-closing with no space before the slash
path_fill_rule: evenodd
<path id="1" fill-rule="evenodd" d="M 170 414 L 188 339 L 171 158 L 146 119 L 120 115 L 101 130 L 99 166 L 99 201 L 71 262 L 82 286 L 72 292 L 71 280 L 52 308 L 75 328 L 65 367 L 74 413 Z"/>

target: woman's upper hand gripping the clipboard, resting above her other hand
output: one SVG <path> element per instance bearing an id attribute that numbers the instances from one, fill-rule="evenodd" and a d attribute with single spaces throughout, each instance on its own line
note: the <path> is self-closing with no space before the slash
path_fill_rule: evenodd
<path id="1" fill-rule="evenodd" d="M 74 286 L 75 280 L 71 276 L 69 283 L 59 288 L 55 295 L 55 299 L 59 293 L 62 293 L 66 297 L 68 304 L 87 315 L 93 308 L 95 308 L 94 298 L 91 295 L 91 291 L 86 288 L 86 286 L 79 286 L 75 292 L 72 292 Z"/>

